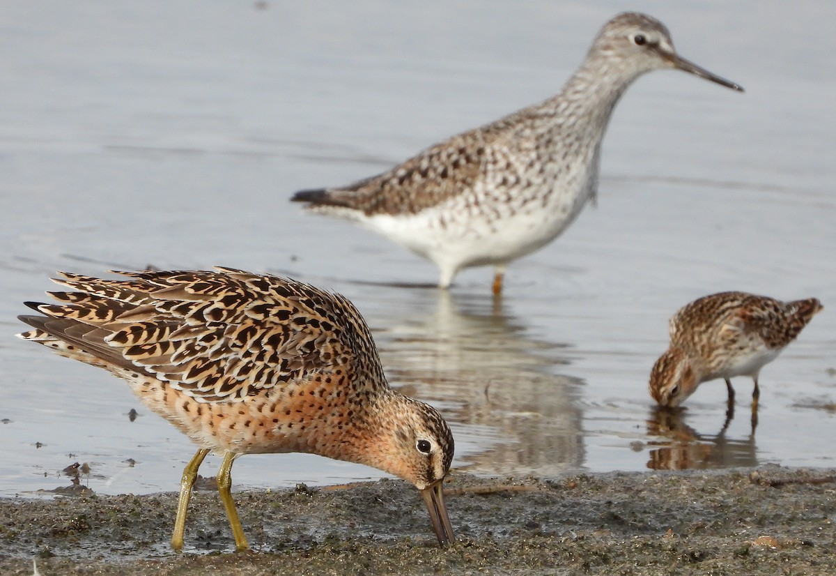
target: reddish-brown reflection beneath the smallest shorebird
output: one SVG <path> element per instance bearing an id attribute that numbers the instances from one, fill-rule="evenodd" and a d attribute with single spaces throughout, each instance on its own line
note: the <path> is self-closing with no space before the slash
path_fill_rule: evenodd
<path id="1" fill-rule="evenodd" d="M 728 438 L 726 431 L 734 418 L 734 406 L 726 410 L 726 419 L 716 435 L 702 435 L 686 424 L 687 409 L 655 406 L 647 419 L 652 470 L 703 470 L 757 466 L 755 424 L 746 437 Z"/>

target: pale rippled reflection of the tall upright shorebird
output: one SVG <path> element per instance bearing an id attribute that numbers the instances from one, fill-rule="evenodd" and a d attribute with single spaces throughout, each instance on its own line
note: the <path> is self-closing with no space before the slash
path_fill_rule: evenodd
<path id="1" fill-rule="evenodd" d="M 566 344 L 534 339 L 489 295 L 413 290 L 396 309 L 410 314 L 370 319 L 390 381 L 441 408 L 459 468 L 554 476 L 583 465 L 580 380 L 556 373 Z"/>

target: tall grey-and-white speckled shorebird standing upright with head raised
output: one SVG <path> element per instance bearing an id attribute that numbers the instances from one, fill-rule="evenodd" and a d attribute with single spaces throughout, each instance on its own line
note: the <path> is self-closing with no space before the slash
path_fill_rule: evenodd
<path id="1" fill-rule="evenodd" d="M 441 288 L 463 268 L 494 265 L 498 294 L 506 265 L 557 238 L 594 198 L 614 106 L 636 78 L 655 69 L 681 69 L 743 90 L 676 54 L 663 23 L 624 13 L 604 26 L 553 98 L 453 136 L 379 176 L 292 199 L 432 260 Z"/>

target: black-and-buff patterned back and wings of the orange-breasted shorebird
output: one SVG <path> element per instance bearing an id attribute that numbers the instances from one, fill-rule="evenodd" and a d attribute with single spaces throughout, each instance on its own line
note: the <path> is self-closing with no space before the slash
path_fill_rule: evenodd
<path id="1" fill-rule="evenodd" d="M 159 378 L 200 402 L 242 399 L 329 371 L 386 386 L 368 327 L 342 296 L 240 270 L 66 275 L 77 292 L 28 320 L 105 363 Z M 37 318 L 37 316 L 35 317 Z M 364 378 L 359 378 L 359 377 Z"/>

